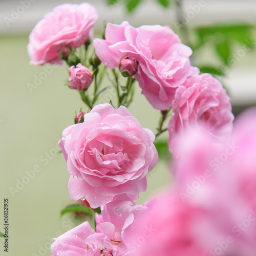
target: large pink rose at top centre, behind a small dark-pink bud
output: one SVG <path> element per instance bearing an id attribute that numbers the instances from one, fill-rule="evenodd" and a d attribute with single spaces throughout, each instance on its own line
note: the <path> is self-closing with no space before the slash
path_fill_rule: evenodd
<path id="1" fill-rule="evenodd" d="M 191 49 L 166 26 L 134 28 L 127 22 L 108 24 L 105 40 L 94 39 L 94 46 L 97 56 L 111 69 L 118 68 L 125 57 L 136 60 L 135 78 L 142 94 L 158 110 L 170 108 L 176 89 L 188 76 L 199 72 L 190 66 Z"/>

